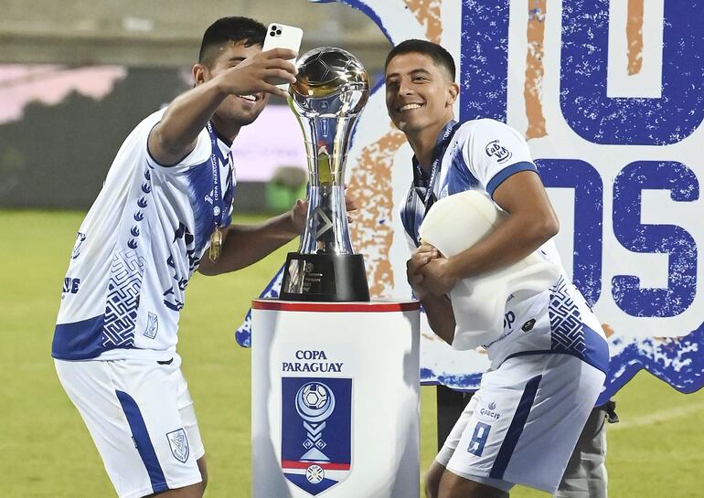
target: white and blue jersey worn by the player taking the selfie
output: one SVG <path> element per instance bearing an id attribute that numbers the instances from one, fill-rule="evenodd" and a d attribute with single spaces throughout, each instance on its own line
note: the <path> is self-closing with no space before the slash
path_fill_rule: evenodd
<path id="1" fill-rule="evenodd" d="M 208 128 L 178 164 L 158 164 L 147 138 L 163 113 L 144 119 L 124 141 L 80 225 L 55 358 L 160 360 L 176 351 L 184 291 L 216 220 L 229 225 L 235 175 L 231 143 Z"/>

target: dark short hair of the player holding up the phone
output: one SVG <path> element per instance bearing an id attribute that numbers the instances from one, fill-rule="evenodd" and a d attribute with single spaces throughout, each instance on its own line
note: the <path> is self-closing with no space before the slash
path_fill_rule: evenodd
<path id="1" fill-rule="evenodd" d="M 234 43 L 244 42 L 245 47 L 263 45 L 266 37 L 266 27 L 260 22 L 249 17 L 222 17 L 208 26 L 200 43 L 198 62 L 212 64 L 213 51 L 211 48 L 220 48 L 228 41 Z"/>

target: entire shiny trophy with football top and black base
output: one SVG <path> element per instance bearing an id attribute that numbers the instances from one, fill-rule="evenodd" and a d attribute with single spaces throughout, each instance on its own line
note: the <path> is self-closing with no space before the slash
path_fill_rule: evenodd
<path id="1" fill-rule="evenodd" d="M 352 129 L 369 97 L 359 60 L 341 48 L 315 48 L 297 62 L 289 104 L 304 133 L 309 203 L 298 252 L 283 269 L 287 301 L 369 301 L 364 258 L 349 238 L 345 160 Z"/>

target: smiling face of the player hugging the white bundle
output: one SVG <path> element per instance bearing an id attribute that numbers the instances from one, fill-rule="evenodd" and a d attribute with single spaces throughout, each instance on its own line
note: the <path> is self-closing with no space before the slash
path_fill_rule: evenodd
<path id="1" fill-rule="evenodd" d="M 386 108 L 407 134 L 450 121 L 457 90 L 448 72 L 421 53 L 400 54 L 386 69 Z"/>

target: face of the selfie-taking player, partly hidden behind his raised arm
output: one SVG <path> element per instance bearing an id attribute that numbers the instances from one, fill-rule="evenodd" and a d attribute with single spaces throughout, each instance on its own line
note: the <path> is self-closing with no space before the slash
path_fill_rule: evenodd
<path id="1" fill-rule="evenodd" d="M 245 47 L 243 42 L 227 43 L 219 49 L 219 54 L 211 64 L 208 76 L 209 78 L 218 76 L 221 72 L 234 68 L 245 58 L 259 52 L 261 52 L 261 45 Z M 245 126 L 257 119 L 267 101 L 269 101 L 269 94 L 264 92 L 241 96 L 229 95 L 222 101 L 215 113 L 220 120 Z"/>

